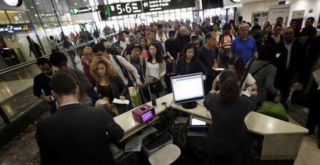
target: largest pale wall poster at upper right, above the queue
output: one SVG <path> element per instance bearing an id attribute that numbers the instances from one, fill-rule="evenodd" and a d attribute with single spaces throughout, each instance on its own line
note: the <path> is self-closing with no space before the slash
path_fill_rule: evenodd
<path id="1" fill-rule="evenodd" d="M 283 5 L 275 5 L 269 6 L 269 17 L 268 21 L 271 24 L 276 24 L 276 19 L 279 16 L 283 17 L 283 24 L 285 26 L 288 25 L 289 15 L 290 15 L 291 4 L 283 4 Z"/>

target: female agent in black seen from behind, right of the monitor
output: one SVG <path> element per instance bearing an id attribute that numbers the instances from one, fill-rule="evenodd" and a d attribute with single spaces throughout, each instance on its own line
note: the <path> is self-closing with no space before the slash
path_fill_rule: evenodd
<path id="1" fill-rule="evenodd" d="M 251 145 L 244 117 L 256 109 L 256 91 L 249 98 L 240 97 L 238 78 L 231 70 L 222 71 L 220 80 L 220 91 L 210 91 L 203 102 L 212 117 L 206 144 L 208 165 L 244 165 Z"/>

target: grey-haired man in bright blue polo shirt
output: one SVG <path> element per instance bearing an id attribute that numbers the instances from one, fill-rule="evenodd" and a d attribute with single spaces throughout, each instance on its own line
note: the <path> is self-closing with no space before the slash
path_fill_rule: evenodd
<path id="1" fill-rule="evenodd" d="M 252 57 L 258 56 L 256 51 L 256 41 L 253 37 L 248 36 L 249 25 L 241 23 L 239 25 L 239 37 L 231 43 L 229 58 L 233 55 L 242 57 L 244 64 L 247 64 Z"/>

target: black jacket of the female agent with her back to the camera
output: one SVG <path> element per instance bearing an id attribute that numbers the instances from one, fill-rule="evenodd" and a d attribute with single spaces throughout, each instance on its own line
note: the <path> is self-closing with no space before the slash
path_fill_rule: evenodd
<path id="1" fill-rule="evenodd" d="M 221 103 L 218 94 L 209 93 L 203 104 L 212 117 L 206 145 L 208 153 L 234 155 L 249 151 L 251 142 L 244 118 L 256 109 L 256 96 L 242 96 L 230 105 Z"/>

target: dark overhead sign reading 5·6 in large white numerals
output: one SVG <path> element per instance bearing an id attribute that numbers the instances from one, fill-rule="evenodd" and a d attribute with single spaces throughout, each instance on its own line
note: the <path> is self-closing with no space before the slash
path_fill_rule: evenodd
<path id="1" fill-rule="evenodd" d="M 170 9 L 194 7 L 194 0 L 142 0 L 106 5 L 108 16 L 123 16 Z"/>

